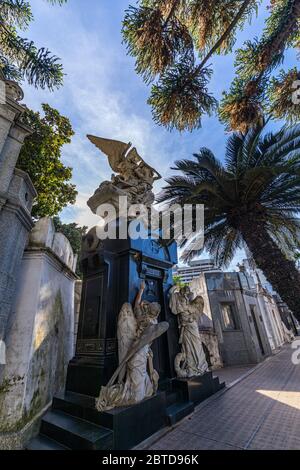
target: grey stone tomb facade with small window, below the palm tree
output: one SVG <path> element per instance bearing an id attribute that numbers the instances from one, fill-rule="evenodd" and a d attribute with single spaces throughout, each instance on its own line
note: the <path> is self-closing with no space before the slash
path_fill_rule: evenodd
<path id="1" fill-rule="evenodd" d="M 211 319 L 224 365 L 257 363 L 271 354 L 256 288 L 249 276 L 206 272 L 192 281 L 191 288 L 204 298 L 207 323 L 204 326 L 209 326 Z M 232 308 L 235 328 L 224 325 L 222 308 L 225 304 Z"/>

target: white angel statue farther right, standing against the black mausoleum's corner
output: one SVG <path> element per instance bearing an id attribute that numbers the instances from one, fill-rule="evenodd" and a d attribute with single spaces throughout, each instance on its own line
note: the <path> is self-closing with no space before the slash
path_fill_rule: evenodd
<path id="1" fill-rule="evenodd" d="M 180 378 L 203 375 L 208 370 L 199 333 L 198 322 L 203 314 L 204 301 L 193 298 L 188 286 L 173 286 L 169 292 L 170 309 L 178 316 L 181 352 L 175 358 L 175 370 Z"/>

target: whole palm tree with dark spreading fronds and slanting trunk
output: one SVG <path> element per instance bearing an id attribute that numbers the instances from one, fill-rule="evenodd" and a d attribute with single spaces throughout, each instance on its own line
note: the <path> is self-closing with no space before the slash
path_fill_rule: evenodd
<path id="1" fill-rule="evenodd" d="M 248 246 L 256 265 L 300 320 L 300 125 L 265 133 L 265 124 L 227 142 L 225 164 L 207 148 L 175 163 L 182 175 L 158 197 L 169 204 L 204 204 L 204 248 L 226 266 Z M 199 254 L 186 251 L 185 260 Z"/>

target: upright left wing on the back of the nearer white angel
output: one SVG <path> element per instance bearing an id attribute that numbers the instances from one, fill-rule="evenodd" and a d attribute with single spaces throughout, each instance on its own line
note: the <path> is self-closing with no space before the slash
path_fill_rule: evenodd
<path id="1" fill-rule="evenodd" d="M 118 317 L 118 353 L 119 353 L 119 364 L 121 364 L 128 352 L 132 348 L 132 345 L 137 335 L 137 320 L 134 316 L 133 309 L 130 303 L 125 303 Z M 125 368 L 123 367 L 119 374 L 119 381 L 121 382 L 124 378 Z"/>

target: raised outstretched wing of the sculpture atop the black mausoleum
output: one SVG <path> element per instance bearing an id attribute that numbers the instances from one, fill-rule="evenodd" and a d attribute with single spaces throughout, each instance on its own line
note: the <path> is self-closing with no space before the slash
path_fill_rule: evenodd
<path id="1" fill-rule="evenodd" d="M 87 138 L 96 145 L 101 152 L 105 153 L 108 157 L 111 169 L 118 173 L 119 164 L 124 161 L 126 152 L 131 147 L 131 143 L 125 144 L 119 140 L 104 139 L 94 135 L 87 135 Z"/>

